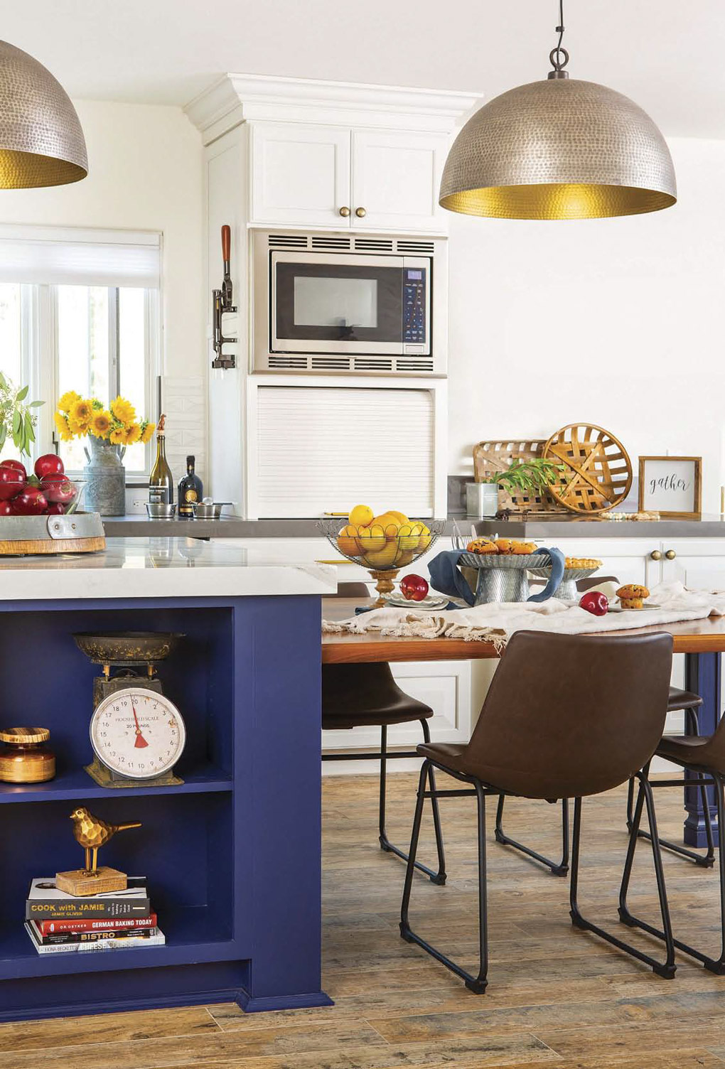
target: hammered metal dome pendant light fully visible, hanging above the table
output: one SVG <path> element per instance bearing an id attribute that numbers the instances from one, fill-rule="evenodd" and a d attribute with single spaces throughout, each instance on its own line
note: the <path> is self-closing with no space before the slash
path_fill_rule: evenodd
<path id="1" fill-rule="evenodd" d="M 441 182 L 443 207 L 498 219 L 592 219 L 676 202 L 669 150 L 649 115 L 564 69 L 562 0 L 556 30 L 547 80 L 502 93 L 457 137 Z"/>

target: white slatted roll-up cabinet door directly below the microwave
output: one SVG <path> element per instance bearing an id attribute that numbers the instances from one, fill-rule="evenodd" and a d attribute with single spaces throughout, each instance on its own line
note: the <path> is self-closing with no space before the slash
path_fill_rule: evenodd
<path id="1" fill-rule="evenodd" d="M 261 518 L 320 516 L 357 503 L 433 515 L 430 390 L 263 386 L 257 414 Z"/>

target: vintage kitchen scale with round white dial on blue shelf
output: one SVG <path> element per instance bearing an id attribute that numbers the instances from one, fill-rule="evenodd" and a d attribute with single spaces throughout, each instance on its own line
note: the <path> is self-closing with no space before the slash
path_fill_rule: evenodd
<path id="1" fill-rule="evenodd" d="M 86 765 L 88 774 L 101 787 L 183 784 L 173 768 L 184 750 L 186 728 L 163 692 L 156 664 L 184 636 L 126 631 L 73 637 L 78 649 L 103 667 L 103 675 L 93 680 L 94 758 Z"/>

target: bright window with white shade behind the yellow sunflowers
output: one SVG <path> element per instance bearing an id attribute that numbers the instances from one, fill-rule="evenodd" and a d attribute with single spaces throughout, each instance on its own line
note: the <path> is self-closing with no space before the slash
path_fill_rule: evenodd
<path id="1" fill-rule="evenodd" d="M 105 405 L 121 393 L 155 420 L 159 262 L 158 235 L 0 227 L 0 368 L 46 402 L 36 452 L 57 440 L 52 414 L 66 390 Z M 60 444 L 67 470 L 83 467 L 84 446 Z M 130 480 L 148 476 L 151 448 L 127 448 Z"/>

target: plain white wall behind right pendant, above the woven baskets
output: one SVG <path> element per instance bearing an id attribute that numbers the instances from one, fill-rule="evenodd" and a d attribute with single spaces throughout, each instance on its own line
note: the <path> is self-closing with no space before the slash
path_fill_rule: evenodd
<path id="1" fill-rule="evenodd" d="M 652 215 L 525 222 L 450 215 L 449 471 L 482 438 L 587 420 L 638 454 L 703 455 L 720 510 L 725 141 L 669 142 L 679 188 Z"/>

